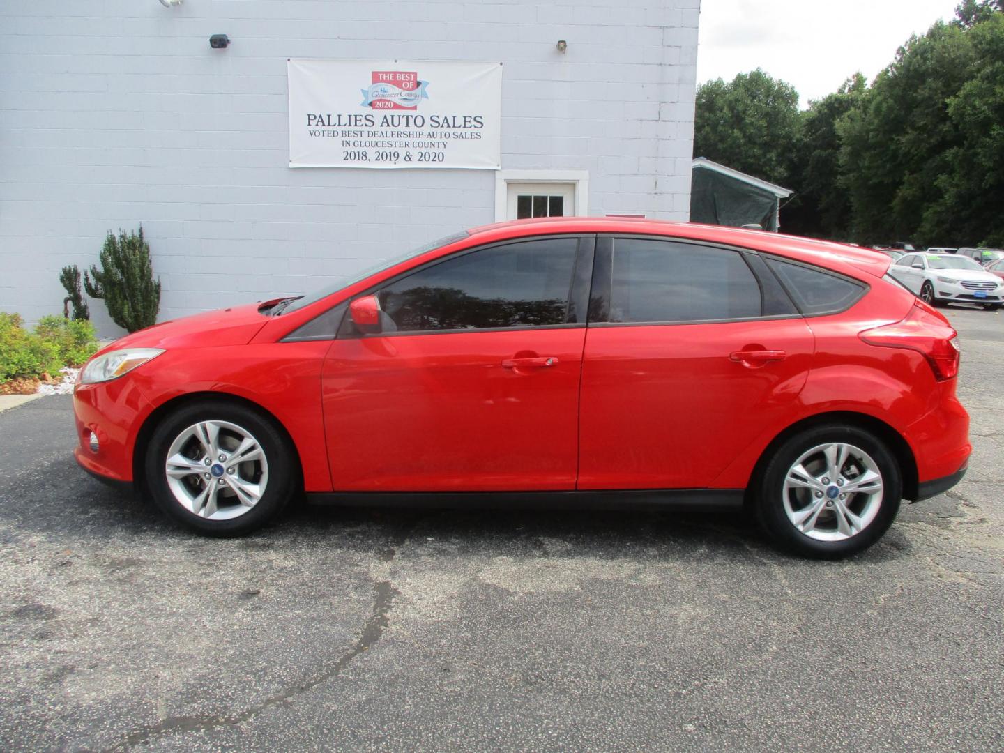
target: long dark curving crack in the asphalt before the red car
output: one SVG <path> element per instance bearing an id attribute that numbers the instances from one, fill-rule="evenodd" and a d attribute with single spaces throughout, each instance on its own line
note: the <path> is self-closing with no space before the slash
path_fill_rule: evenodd
<path id="1" fill-rule="evenodd" d="M 391 562 L 395 558 L 398 553 L 398 549 L 401 548 L 407 540 L 410 530 L 411 527 L 399 531 L 399 533 L 391 540 L 391 546 L 384 549 L 380 553 L 380 559 L 382 562 Z M 168 737 L 178 733 L 185 734 L 190 732 L 207 732 L 217 727 L 228 727 L 235 724 L 241 724 L 270 708 L 288 705 L 297 696 L 313 690 L 318 685 L 337 677 L 345 670 L 346 667 L 348 667 L 349 664 L 351 664 L 352 660 L 375 646 L 391 624 L 390 612 L 394 607 L 394 599 L 395 596 L 400 595 L 401 592 L 395 588 L 394 585 L 392 585 L 390 580 L 374 581 L 373 590 L 375 594 L 373 598 L 372 611 L 366 619 L 366 622 L 362 628 L 362 632 L 359 634 L 359 638 L 352 645 L 352 648 L 345 652 L 341 658 L 335 662 L 334 666 L 322 675 L 315 677 L 313 680 L 308 682 L 301 683 L 300 685 L 290 688 L 282 693 L 271 696 L 257 706 L 241 712 L 240 714 L 233 714 L 230 716 L 205 715 L 168 717 L 159 724 L 134 732 L 121 742 L 110 748 L 106 748 L 105 750 L 128 750 L 134 746 L 142 745 L 152 740 Z"/>

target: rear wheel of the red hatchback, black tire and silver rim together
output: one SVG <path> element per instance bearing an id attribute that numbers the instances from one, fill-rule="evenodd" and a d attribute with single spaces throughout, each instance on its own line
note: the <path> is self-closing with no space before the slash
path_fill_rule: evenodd
<path id="1" fill-rule="evenodd" d="M 900 509 L 903 478 L 889 448 L 857 427 L 816 427 L 790 437 L 760 476 L 756 512 L 782 547 L 836 559 L 877 541 Z"/>

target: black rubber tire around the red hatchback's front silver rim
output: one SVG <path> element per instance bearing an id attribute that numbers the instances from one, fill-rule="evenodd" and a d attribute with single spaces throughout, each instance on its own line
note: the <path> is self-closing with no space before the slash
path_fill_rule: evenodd
<path id="1" fill-rule="evenodd" d="M 195 514 L 183 506 L 168 481 L 166 463 L 172 444 L 187 428 L 203 422 L 224 422 L 246 430 L 260 446 L 267 463 L 267 483 L 253 506 L 245 511 L 237 504 L 236 496 L 229 505 L 221 504 L 221 509 L 235 508 L 237 516 L 230 519 L 213 520 Z M 271 419 L 250 408 L 214 400 L 189 403 L 163 420 L 154 430 L 147 447 L 144 469 L 146 486 L 157 506 L 185 527 L 209 536 L 240 536 L 266 525 L 289 503 L 299 480 L 296 454 L 285 434 Z M 195 488 L 204 483 L 219 483 L 229 492 L 223 486 L 225 479 L 218 480 L 214 477 L 209 482 L 204 482 L 201 478 L 196 478 L 202 476 L 203 474 L 193 474 L 191 482 L 186 483 L 193 484 Z"/>

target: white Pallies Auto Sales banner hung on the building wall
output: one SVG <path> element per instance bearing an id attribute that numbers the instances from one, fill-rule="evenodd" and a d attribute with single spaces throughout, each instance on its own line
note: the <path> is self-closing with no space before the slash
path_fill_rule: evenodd
<path id="1" fill-rule="evenodd" d="M 289 167 L 499 170 L 499 63 L 289 60 Z"/>

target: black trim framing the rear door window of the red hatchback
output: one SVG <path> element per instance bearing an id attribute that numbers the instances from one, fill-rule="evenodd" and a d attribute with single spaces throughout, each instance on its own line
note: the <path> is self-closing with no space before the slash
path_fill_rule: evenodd
<path id="1" fill-rule="evenodd" d="M 717 248 L 723 251 L 733 251 L 740 255 L 746 267 L 750 270 L 753 278 L 756 280 L 757 286 L 760 288 L 760 310 L 763 310 L 763 300 L 764 300 L 764 282 L 761 279 L 761 274 L 763 272 L 759 270 L 758 265 L 752 265 L 747 260 L 747 256 L 764 256 L 758 251 L 749 248 L 742 248 L 739 246 L 730 246 L 724 243 L 714 243 L 713 241 L 702 241 L 694 238 L 681 238 L 678 236 L 671 235 L 653 235 L 650 233 L 601 233 L 596 238 L 596 256 L 595 263 L 593 267 L 593 300 L 590 300 L 589 306 L 589 326 L 590 327 L 646 327 L 646 326 L 683 326 L 687 324 L 727 324 L 730 322 L 742 322 L 742 321 L 774 321 L 777 319 L 799 319 L 804 316 L 804 314 L 799 313 L 798 306 L 795 304 L 794 300 L 791 299 L 791 294 L 788 289 L 777 282 L 780 285 L 781 291 L 784 295 L 788 297 L 791 303 L 794 313 L 790 314 L 771 314 L 768 316 L 739 316 L 733 318 L 725 319 L 669 319 L 666 321 L 610 321 L 609 311 L 610 311 L 610 296 L 613 288 L 613 249 L 617 239 L 624 240 L 659 240 L 659 241 L 669 241 L 671 243 L 680 243 L 683 245 L 691 246 L 703 246 L 705 248 Z M 777 257 L 783 258 L 783 257 Z M 764 264 L 766 267 L 767 265 Z M 812 266 L 812 265 L 806 265 Z M 817 267 L 812 267 L 817 268 Z M 770 272 L 768 268 L 768 272 Z M 773 272 L 770 272 L 773 274 Z M 776 280 L 776 275 L 774 277 Z M 595 315 L 594 315 L 595 314 Z"/>

